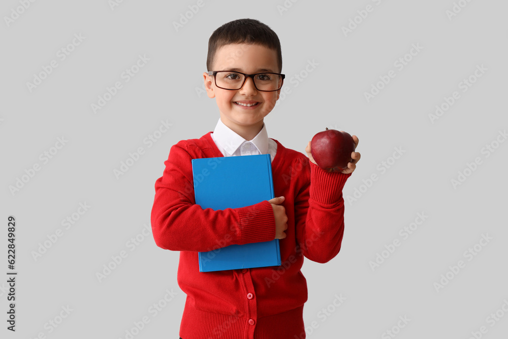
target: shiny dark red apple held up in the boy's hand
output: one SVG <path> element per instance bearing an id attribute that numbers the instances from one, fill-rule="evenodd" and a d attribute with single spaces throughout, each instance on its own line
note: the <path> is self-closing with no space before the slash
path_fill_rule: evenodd
<path id="1" fill-rule="evenodd" d="M 327 172 L 342 172 L 353 161 L 355 151 L 353 137 L 346 132 L 329 130 L 319 132 L 310 141 L 310 153 L 317 166 Z"/>

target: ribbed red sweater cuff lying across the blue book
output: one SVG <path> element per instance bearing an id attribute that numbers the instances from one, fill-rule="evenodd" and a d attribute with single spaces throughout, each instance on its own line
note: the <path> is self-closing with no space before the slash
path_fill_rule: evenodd
<path id="1" fill-rule="evenodd" d="M 237 208 L 237 211 L 242 229 L 240 244 L 275 239 L 275 217 L 272 204 L 268 200 Z"/>

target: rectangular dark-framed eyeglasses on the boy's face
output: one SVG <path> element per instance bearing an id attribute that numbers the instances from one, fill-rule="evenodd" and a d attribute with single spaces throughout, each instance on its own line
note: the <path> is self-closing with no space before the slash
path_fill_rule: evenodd
<path id="1" fill-rule="evenodd" d="M 256 73 L 245 74 L 232 71 L 210 71 L 209 76 L 213 75 L 215 86 L 222 89 L 238 90 L 242 88 L 247 78 L 252 78 L 254 87 L 263 92 L 273 92 L 279 90 L 284 82 L 284 74 L 280 73 Z"/>

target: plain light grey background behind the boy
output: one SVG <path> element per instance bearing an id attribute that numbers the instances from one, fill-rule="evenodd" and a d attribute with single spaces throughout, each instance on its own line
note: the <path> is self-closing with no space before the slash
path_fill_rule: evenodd
<path id="1" fill-rule="evenodd" d="M 40 332 L 51 338 L 125 338 L 125 331 L 147 316 L 149 323 L 135 338 L 178 337 L 185 302 L 176 280 L 179 253 L 157 248 L 151 232 L 144 236 L 142 231 L 150 225 L 153 186 L 170 147 L 213 131 L 219 117 L 215 100 L 202 91 L 208 38 L 228 21 L 255 18 L 277 33 L 287 75 L 283 88 L 291 90 L 265 118 L 268 136 L 304 154 L 307 142 L 325 127 L 360 139 L 362 159 L 343 194 L 347 199 L 356 189 L 364 192 L 357 201 L 346 200 L 342 249 L 326 264 L 306 259 L 302 268 L 309 289 L 307 337 L 389 337 L 385 331 L 406 316 L 410 321 L 397 337 L 468 338 L 485 326 L 483 337 L 500 338 L 508 332 L 508 315 L 499 312 L 504 317 L 493 327 L 487 317 L 508 300 L 508 143 L 499 143 L 489 157 L 484 147 L 498 136 L 501 140 L 499 131 L 508 127 L 508 3 L 460 3 L 467 5 L 450 19 L 451 0 L 288 0 L 291 7 L 283 12 L 282 1 L 205 0 L 177 32 L 173 22 L 196 1 L 125 0 L 113 9 L 106 0 L 35 2 L 9 25 L 5 17 L 21 5 L 3 2 L 0 205 L 5 226 L 0 243 L 5 268 L 0 271 L 8 271 L 7 217 L 14 215 L 18 276 L 17 330 L 2 332 L 19 338 Z M 358 17 L 360 23 L 345 36 L 342 27 L 367 5 L 372 12 L 361 22 Z M 60 60 L 57 51 L 75 34 L 84 40 Z M 399 71 L 394 63 L 412 44 L 423 49 Z M 122 72 L 139 55 L 149 61 L 125 82 Z M 58 67 L 30 92 L 26 83 L 51 60 Z M 309 60 L 318 65 L 295 81 Z M 463 93 L 459 83 L 477 65 L 487 71 Z M 396 76 L 367 102 L 364 93 L 390 70 Z M 91 104 L 116 81 L 123 87 L 94 113 Z M 454 91 L 460 98 L 432 124 L 429 114 Z M 172 127 L 148 147 L 143 140 L 161 120 Z M 39 155 L 62 136 L 66 145 L 43 164 Z M 144 155 L 117 178 L 113 170 L 138 147 Z M 395 147 L 405 152 L 383 173 L 378 166 Z M 451 180 L 477 157 L 482 164 L 466 171 L 470 175 L 454 188 Z M 13 195 L 9 186 L 34 164 L 40 171 Z M 377 181 L 362 188 L 362 180 L 373 174 Z M 62 227 L 62 219 L 85 202 L 90 208 L 79 220 Z M 403 239 L 399 230 L 418 212 L 428 218 Z M 62 236 L 35 260 L 33 252 L 57 229 Z M 468 261 L 464 251 L 482 234 L 492 240 Z M 143 240 L 133 249 L 128 241 L 137 235 Z M 369 261 L 394 239 L 400 246 L 372 270 Z M 99 282 L 97 272 L 121 251 L 128 256 Z M 434 283 L 459 260 L 465 267 L 436 291 Z M 5 319 L 6 280 L 0 283 Z M 149 307 L 163 300 L 166 290 L 176 295 L 154 316 Z M 336 294 L 346 298 L 339 307 L 333 306 Z M 73 311 L 49 333 L 47 323 L 67 305 Z M 333 312 L 323 321 L 320 312 L 327 307 Z M 317 325 L 311 328 L 313 321 Z"/>

